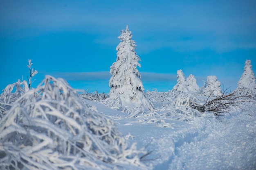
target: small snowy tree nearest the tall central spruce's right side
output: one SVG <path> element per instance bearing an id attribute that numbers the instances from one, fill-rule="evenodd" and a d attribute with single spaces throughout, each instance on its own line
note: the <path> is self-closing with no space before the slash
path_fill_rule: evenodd
<path id="1" fill-rule="evenodd" d="M 188 92 L 186 84 L 184 73 L 182 70 L 177 70 L 177 84 L 173 87 L 173 92 Z"/>

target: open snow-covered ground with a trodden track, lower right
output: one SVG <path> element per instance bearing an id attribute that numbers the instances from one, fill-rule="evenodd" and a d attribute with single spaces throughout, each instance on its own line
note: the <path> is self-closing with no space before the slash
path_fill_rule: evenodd
<path id="1" fill-rule="evenodd" d="M 85 101 L 114 120 L 130 143 L 152 151 L 144 157 L 148 169 L 256 169 L 255 104 L 219 120 L 202 116 L 182 122 L 167 117 L 164 121 L 168 127 L 161 127 L 157 118 L 126 118 L 126 114 L 101 103 Z"/>

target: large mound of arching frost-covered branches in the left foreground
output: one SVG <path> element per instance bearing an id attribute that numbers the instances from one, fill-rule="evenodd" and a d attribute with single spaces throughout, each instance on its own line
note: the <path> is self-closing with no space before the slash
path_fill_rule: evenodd
<path id="1" fill-rule="evenodd" d="M 46 76 L 0 121 L 0 169 L 113 169 L 140 163 L 112 121 L 88 109 L 63 79 Z"/>

